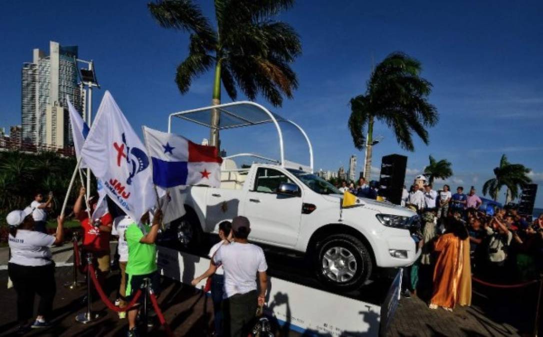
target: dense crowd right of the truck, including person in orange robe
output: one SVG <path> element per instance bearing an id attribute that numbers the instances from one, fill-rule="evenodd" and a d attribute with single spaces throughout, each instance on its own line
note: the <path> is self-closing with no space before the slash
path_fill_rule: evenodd
<path id="1" fill-rule="evenodd" d="M 466 195 L 462 186 L 452 194 L 449 185 L 440 191 L 413 185 L 402 203 L 421 217 L 421 257 L 404 269 L 405 297 L 426 288 L 430 308 L 452 310 L 470 305 L 472 276 L 512 284 L 535 280 L 543 271 L 543 214 L 532 219 L 514 208 L 481 210 L 473 186 Z"/>

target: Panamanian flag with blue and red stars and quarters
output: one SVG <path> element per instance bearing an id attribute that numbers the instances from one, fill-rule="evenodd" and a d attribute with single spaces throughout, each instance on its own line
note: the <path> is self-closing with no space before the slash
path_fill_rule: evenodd
<path id="1" fill-rule="evenodd" d="M 153 183 L 168 188 L 181 185 L 219 187 L 220 164 L 217 147 L 195 144 L 173 133 L 143 127 L 147 151 L 153 166 Z"/>

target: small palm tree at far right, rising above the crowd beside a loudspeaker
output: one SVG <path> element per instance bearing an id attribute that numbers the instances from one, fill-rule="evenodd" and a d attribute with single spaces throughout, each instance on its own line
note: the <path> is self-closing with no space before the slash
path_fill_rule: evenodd
<path id="1" fill-rule="evenodd" d="M 483 195 L 487 193 L 496 201 L 498 193 L 503 186 L 507 187 L 506 204 L 519 196 L 519 187 L 532 182 L 528 177 L 530 169 L 521 164 L 511 164 L 502 154 L 500 166 L 494 168 L 494 178 L 487 180 L 483 185 Z"/>

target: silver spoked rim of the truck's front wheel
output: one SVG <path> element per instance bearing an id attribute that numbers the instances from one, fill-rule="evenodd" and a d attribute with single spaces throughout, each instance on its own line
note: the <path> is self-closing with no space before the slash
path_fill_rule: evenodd
<path id="1" fill-rule="evenodd" d="M 352 280 L 357 270 L 356 258 L 349 249 L 332 247 L 322 259 L 323 274 L 330 280 L 343 283 Z"/>

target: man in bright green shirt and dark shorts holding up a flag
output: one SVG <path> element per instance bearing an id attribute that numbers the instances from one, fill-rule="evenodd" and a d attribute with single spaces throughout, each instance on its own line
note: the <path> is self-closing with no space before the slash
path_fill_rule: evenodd
<path id="1" fill-rule="evenodd" d="M 149 227 L 148 213 L 142 216 L 139 224 L 135 222 L 124 231 L 124 237 L 128 245 L 127 263 L 127 291 L 126 298 L 130 302 L 132 296 L 140 289 L 145 278 L 149 278 L 151 288 L 158 293 L 160 276 L 156 272 L 156 236 L 162 222 L 162 212 L 155 211 L 153 223 Z M 143 299 L 142 294 L 140 299 Z M 128 337 L 136 337 L 136 317 L 138 310 L 132 309 L 128 312 Z"/>

